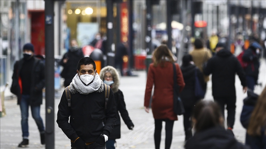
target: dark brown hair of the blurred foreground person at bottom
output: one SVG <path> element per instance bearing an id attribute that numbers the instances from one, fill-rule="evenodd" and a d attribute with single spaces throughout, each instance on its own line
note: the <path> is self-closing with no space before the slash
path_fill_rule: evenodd
<path id="1" fill-rule="evenodd" d="M 221 118 L 223 118 L 223 116 L 218 104 L 210 100 L 201 100 L 196 104 L 192 118 L 196 120 L 194 127 L 198 132 L 222 125 Z"/>

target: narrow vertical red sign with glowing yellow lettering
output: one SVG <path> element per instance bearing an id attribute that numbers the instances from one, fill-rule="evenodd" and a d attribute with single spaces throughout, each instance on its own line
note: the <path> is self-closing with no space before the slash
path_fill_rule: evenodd
<path id="1" fill-rule="evenodd" d="M 129 35 L 129 15 L 127 2 L 121 3 L 121 42 L 128 41 Z"/>

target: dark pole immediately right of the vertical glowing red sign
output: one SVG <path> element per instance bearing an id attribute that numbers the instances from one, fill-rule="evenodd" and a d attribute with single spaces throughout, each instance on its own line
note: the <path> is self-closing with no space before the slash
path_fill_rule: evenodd
<path id="1" fill-rule="evenodd" d="M 129 69 L 134 67 L 134 57 L 133 57 L 133 1 L 128 1 L 129 8 Z"/>

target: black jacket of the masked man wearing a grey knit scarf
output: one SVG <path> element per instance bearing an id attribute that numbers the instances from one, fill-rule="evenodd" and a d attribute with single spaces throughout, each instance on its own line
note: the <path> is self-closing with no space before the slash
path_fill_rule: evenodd
<path id="1" fill-rule="evenodd" d="M 104 92 L 92 92 L 87 95 L 71 94 L 71 107 L 68 107 L 64 91 L 58 105 L 56 122 L 72 141 L 80 137 L 85 142 L 94 142 L 101 134 L 109 136 L 113 131 L 116 105 L 112 89 L 105 113 L 104 106 Z"/>

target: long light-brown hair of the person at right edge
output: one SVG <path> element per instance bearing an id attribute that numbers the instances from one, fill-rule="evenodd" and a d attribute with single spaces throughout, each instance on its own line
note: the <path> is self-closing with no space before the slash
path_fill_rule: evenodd
<path id="1" fill-rule="evenodd" d="M 266 126 L 266 86 L 258 97 L 248 124 L 248 134 L 261 136 L 261 129 Z M 266 134 L 266 131 L 265 131 Z"/>

